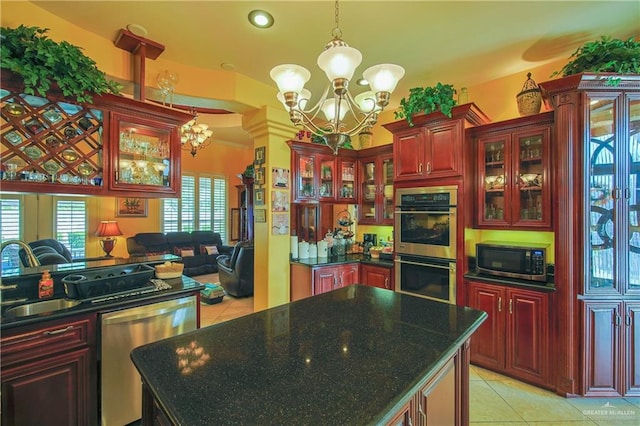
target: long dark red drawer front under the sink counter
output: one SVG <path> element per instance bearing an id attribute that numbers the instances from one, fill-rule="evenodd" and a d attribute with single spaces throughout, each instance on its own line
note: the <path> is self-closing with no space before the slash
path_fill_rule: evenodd
<path id="1" fill-rule="evenodd" d="M 66 318 L 11 330 L 0 340 L 2 367 L 93 344 L 93 316 Z"/>

